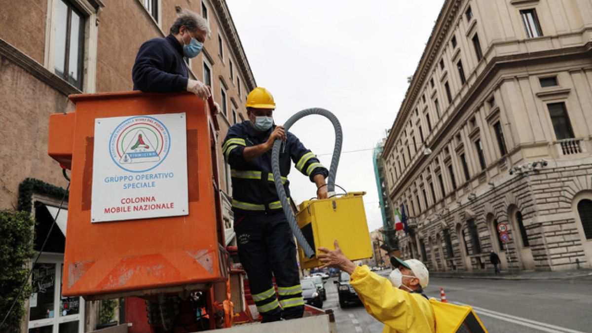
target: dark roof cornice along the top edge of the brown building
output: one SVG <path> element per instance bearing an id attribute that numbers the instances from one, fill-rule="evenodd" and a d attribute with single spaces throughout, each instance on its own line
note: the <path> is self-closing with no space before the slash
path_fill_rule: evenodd
<path id="1" fill-rule="evenodd" d="M 240 41 L 239 33 L 236 30 L 236 26 L 234 25 L 234 21 L 232 20 L 230 11 L 226 5 L 226 1 L 211 0 L 211 2 L 214 5 L 216 14 L 220 18 L 221 28 L 223 28 L 224 33 L 230 41 L 230 48 L 237 59 L 237 65 L 239 66 L 240 71 L 243 73 L 244 84 L 247 86 L 249 91 L 252 91 L 255 89 L 255 87 L 257 87 L 257 83 L 255 82 L 255 77 L 251 71 L 247 56 L 244 53 L 243 44 Z"/>

